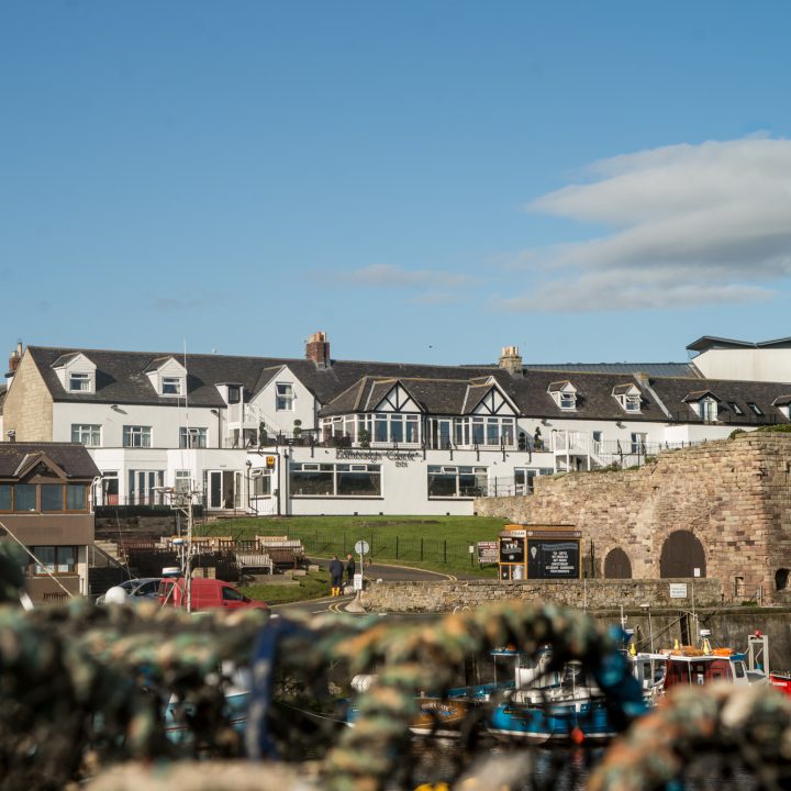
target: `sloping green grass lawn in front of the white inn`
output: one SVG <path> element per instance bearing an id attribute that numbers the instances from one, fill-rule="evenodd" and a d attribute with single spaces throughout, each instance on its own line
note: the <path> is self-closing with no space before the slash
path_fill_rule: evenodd
<path id="1" fill-rule="evenodd" d="M 210 522 L 196 534 L 239 541 L 288 535 L 302 542 L 309 557 L 345 556 L 364 539 L 374 562 L 491 577 L 495 567 L 479 568 L 477 555 L 470 558 L 469 547 L 497 538 L 503 524 L 501 519 L 482 516 L 260 516 Z"/>

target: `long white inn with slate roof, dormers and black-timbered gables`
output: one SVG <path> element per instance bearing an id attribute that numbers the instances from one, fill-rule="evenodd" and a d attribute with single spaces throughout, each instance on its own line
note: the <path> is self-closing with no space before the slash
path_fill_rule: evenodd
<path id="1" fill-rule="evenodd" d="M 788 423 L 791 386 L 665 366 L 424 366 L 21 345 L 3 431 L 79 442 L 105 504 L 198 491 L 210 511 L 467 514 L 536 475 L 640 464 L 666 447 Z"/>

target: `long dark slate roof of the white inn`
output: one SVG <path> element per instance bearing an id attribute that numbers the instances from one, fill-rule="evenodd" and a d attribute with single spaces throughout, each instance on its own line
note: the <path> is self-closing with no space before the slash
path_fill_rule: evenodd
<path id="1" fill-rule="evenodd" d="M 67 392 L 52 368 L 65 355 L 82 353 L 97 366 L 97 391 Z M 176 353 L 113 352 L 99 349 L 71 349 L 29 346 L 33 361 L 47 385 L 55 401 L 159 404 L 177 406 L 180 399 L 158 396 L 145 371 L 154 360 L 175 357 Z M 624 364 L 625 365 L 625 364 Z M 747 406 L 747 402 L 759 405 L 767 417 L 787 422 L 772 403 L 788 394 L 788 383 L 721 381 L 702 379 L 694 371 L 687 377 L 650 377 L 645 387 L 643 377 L 634 371 L 649 366 L 615 366 L 613 371 L 573 371 L 569 367 L 525 367 L 523 376 L 512 377 L 508 371 L 488 366 L 431 366 L 405 363 L 372 363 L 357 360 L 334 360 L 323 368 L 312 360 L 275 357 L 241 357 L 227 355 L 188 355 L 188 396 L 193 406 L 224 406 L 216 389 L 218 383 L 237 382 L 245 389 L 245 400 L 257 393 L 275 377 L 282 366 L 288 366 L 294 376 L 324 404 L 322 415 L 349 414 L 374 409 L 376 398 L 387 394 L 397 380 L 401 381 L 412 398 L 427 414 L 459 415 L 475 409 L 479 398 L 488 390 L 493 378 L 503 392 L 519 408 L 522 415 L 536 419 L 562 417 L 564 420 L 623 420 L 667 421 L 668 415 L 661 403 L 677 420 L 694 422 L 700 417 L 683 403 L 690 393 L 705 387 L 720 399 L 720 415 L 728 422 L 762 422 Z M 630 370 L 627 371 L 626 368 Z M 390 385 L 385 382 L 389 381 Z M 577 409 L 561 410 L 547 392 L 550 383 L 570 381 L 577 388 Z M 628 412 L 613 397 L 616 388 L 634 385 L 640 392 L 639 413 Z M 472 388 L 472 390 L 470 389 Z M 620 390 L 619 390 L 620 391 Z M 657 401 L 657 398 L 661 401 Z M 0 390 L 0 405 L 2 390 Z M 733 413 L 729 401 L 736 402 L 743 415 Z M 368 405 L 370 404 L 370 405 Z"/>

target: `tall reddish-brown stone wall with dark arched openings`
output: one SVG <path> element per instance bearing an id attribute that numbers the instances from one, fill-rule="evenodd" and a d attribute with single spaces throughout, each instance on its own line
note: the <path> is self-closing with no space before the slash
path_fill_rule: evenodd
<path id="1" fill-rule="evenodd" d="M 476 513 L 575 525 L 584 550 L 593 549 L 597 576 L 621 548 L 634 578 L 658 579 L 669 536 L 688 531 L 703 546 L 703 576 L 721 581 L 726 601 L 757 591 L 764 601 L 788 600 L 776 575 L 791 569 L 789 434 L 739 434 L 666 452 L 638 469 L 536 478 L 534 486 L 530 497 L 476 500 Z"/>

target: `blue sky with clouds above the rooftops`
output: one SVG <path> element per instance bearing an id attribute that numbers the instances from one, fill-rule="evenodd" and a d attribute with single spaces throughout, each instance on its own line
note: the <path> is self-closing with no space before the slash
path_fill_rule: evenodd
<path id="1" fill-rule="evenodd" d="M 4 2 L 0 354 L 791 335 L 791 5 Z"/>

